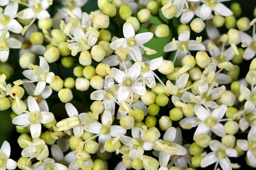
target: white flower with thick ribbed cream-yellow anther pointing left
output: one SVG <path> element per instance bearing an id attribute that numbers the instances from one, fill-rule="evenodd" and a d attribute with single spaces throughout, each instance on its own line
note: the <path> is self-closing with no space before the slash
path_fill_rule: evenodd
<path id="1" fill-rule="evenodd" d="M 81 137 L 84 131 L 83 125 L 87 124 L 90 116 L 87 113 L 80 113 L 78 115 L 77 109 L 71 103 L 66 103 L 65 108 L 69 118 L 63 119 L 56 124 L 58 131 L 73 129 L 74 135 Z"/>

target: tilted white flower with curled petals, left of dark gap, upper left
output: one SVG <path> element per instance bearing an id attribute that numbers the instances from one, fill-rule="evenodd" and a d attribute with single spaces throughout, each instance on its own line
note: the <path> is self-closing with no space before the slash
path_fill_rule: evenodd
<path id="1" fill-rule="evenodd" d="M 38 65 L 29 65 L 29 69 L 32 70 L 24 70 L 22 74 L 31 81 L 26 82 L 37 82 L 36 90 L 34 95 L 40 95 L 44 90 L 46 83 L 51 83 L 55 79 L 55 75 L 53 72 L 50 72 L 49 65 L 46 59 L 42 56 L 39 56 L 40 64 Z"/>

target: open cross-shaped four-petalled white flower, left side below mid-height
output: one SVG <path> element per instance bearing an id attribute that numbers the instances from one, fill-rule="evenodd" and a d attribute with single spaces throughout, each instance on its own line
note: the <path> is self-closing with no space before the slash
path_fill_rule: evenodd
<path id="1" fill-rule="evenodd" d="M 40 112 L 40 108 L 32 96 L 28 96 L 27 102 L 29 111 L 24 110 L 25 113 L 13 118 L 12 123 L 23 127 L 30 125 L 32 138 L 38 138 L 41 134 L 41 123 L 51 122 L 54 119 L 54 115 L 47 111 Z"/>

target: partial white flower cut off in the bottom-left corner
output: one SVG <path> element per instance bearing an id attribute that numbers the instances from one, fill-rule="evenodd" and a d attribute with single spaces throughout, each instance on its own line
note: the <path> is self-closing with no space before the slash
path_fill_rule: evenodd
<path id="1" fill-rule="evenodd" d="M 10 144 L 6 140 L 0 148 L 0 169 L 15 170 L 17 163 L 10 159 Z"/>

